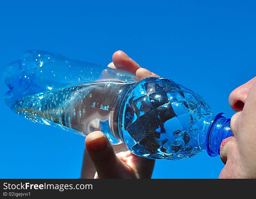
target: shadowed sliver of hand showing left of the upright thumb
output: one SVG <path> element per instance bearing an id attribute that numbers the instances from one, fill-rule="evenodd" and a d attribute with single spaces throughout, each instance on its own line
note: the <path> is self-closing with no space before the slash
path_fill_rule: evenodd
<path id="1" fill-rule="evenodd" d="M 96 168 L 91 160 L 86 147 L 83 152 L 83 164 L 81 169 L 81 178 L 91 179 L 94 178 Z"/>

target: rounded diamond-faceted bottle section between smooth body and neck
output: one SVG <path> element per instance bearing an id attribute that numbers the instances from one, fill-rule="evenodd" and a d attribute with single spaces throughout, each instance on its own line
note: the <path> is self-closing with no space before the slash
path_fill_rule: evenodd
<path id="1" fill-rule="evenodd" d="M 177 160 L 203 150 L 205 121 L 213 115 L 203 98 L 165 78 L 132 87 L 119 117 L 122 140 L 134 154 Z M 200 139 L 202 137 L 202 139 Z"/>

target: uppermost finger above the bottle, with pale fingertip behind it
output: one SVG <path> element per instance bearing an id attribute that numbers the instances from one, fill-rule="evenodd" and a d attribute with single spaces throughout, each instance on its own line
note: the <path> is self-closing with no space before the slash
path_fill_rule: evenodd
<path id="1" fill-rule="evenodd" d="M 114 52 L 112 56 L 113 64 L 110 63 L 110 67 L 126 70 L 132 74 L 136 73 L 136 70 L 140 68 L 140 65 L 131 59 L 125 52 L 118 50 Z"/>

